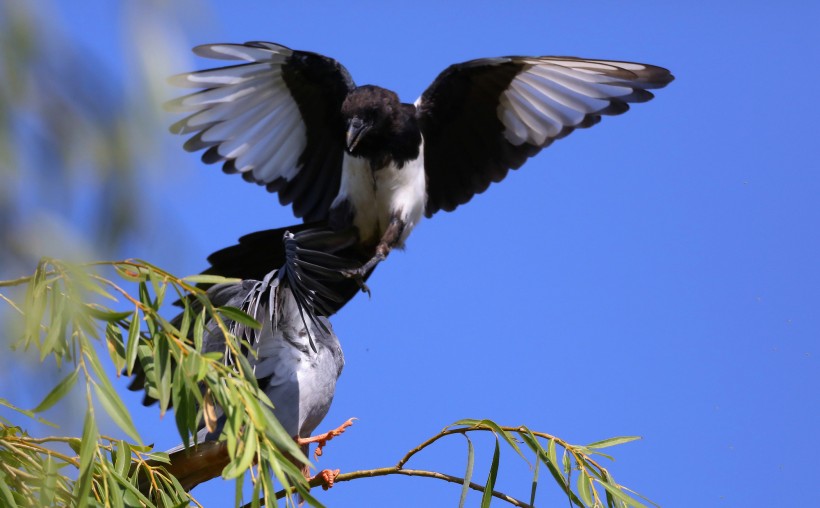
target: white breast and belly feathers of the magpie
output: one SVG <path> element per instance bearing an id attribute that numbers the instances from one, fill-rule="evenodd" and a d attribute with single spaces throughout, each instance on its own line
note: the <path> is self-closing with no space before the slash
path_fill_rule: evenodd
<path id="1" fill-rule="evenodd" d="M 401 247 L 421 220 L 426 195 L 423 146 L 418 159 L 401 169 L 391 163 L 376 172 L 371 171 L 367 160 L 345 154 L 342 182 L 333 206 L 350 201 L 355 210 L 353 223 L 362 241 L 380 239 L 390 219 L 398 217 L 405 223 Z"/>

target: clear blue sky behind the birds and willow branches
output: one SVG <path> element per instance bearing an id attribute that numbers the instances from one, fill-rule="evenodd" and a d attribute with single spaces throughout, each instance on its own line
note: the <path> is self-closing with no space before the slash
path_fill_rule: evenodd
<path id="1" fill-rule="evenodd" d="M 457 419 L 492 418 L 580 444 L 643 436 L 607 465 L 665 507 L 810 502 L 820 481 L 820 5 L 534 4 L 189 1 L 166 12 L 184 30 L 173 54 L 156 55 L 163 69 L 208 65 L 181 47 L 269 40 L 332 56 L 358 84 L 406 102 L 449 64 L 487 56 L 633 60 L 676 76 L 652 102 L 422 222 L 379 267 L 372 298 L 333 319 L 347 365 L 321 428 L 359 421 L 320 466 L 391 465 Z M 122 55 L 143 11 L 62 9 L 68 34 L 137 86 Z M 123 256 L 194 273 L 238 236 L 295 222 L 275 196 L 185 154 L 182 139 L 161 140 L 146 168 L 162 182 L 148 198 L 157 220 Z M 173 446 L 173 422 L 129 400 L 146 440 Z M 483 480 L 492 449 L 478 444 Z M 465 444 L 420 459 L 415 467 L 461 475 Z M 510 450 L 501 470 L 498 489 L 528 498 L 529 473 Z M 196 491 L 206 506 L 233 499 L 218 483 Z M 543 477 L 542 505 L 563 502 L 554 490 Z M 458 496 L 398 477 L 319 499 L 415 507 Z"/>

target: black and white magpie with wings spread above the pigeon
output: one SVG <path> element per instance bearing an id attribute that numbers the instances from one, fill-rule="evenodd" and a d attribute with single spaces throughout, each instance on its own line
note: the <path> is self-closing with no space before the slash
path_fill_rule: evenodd
<path id="1" fill-rule="evenodd" d="M 305 223 L 352 231 L 369 255 L 343 273 L 360 283 L 422 215 L 456 209 L 556 139 L 673 80 L 634 62 L 481 58 L 451 65 L 410 104 L 309 51 L 271 42 L 193 51 L 234 63 L 171 79 L 201 89 L 168 103 L 189 114 L 171 131 L 191 135 L 184 148 L 204 151 L 205 163 L 278 193 Z M 225 263 L 239 263 L 228 262 L 238 252 L 223 252 Z"/>

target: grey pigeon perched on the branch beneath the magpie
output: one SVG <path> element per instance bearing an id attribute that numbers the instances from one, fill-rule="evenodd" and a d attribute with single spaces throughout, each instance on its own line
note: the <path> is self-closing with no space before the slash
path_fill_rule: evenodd
<path id="1" fill-rule="evenodd" d="M 215 285 L 208 289 L 207 296 L 215 307 L 242 309 L 262 325 L 256 330 L 226 320 L 231 333 L 253 349 L 245 356 L 259 387 L 273 402 L 277 420 L 301 445 L 304 454 L 307 454 L 310 443 L 319 443 L 318 455 L 327 440 L 352 423 L 348 420 L 337 429 L 311 437 L 330 409 L 336 380 L 344 367 L 342 348 L 330 321 L 314 311 L 323 305 L 322 302 L 343 300 L 326 284 L 341 277 L 338 267 L 345 261 L 326 252 L 303 248 L 297 237 L 290 233 L 285 233 L 280 241 L 285 245 L 281 268 L 268 273 L 262 280 Z M 319 246 L 319 243 L 314 241 L 310 245 Z M 329 278 L 327 274 L 330 274 Z M 198 304 L 197 300 L 191 300 L 191 305 Z M 222 331 L 213 322 L 206 323 L 202 351 L 220 352 L 226 362 L 234 361 Z M 152 404 L 155 402 L 152 383 L 146 379 L 141 365 L 137 367 L 130 388 L 144 388 L 144 402 Z M 203 425 L 197 434 L 197 442 L 218 439 L 225 418 L 221 408 L 215 407 L 215 412 L 210 422 L 213 425 L 210 430 Z M 184 450 L 182 445 L 168 451 L 171 465 L 166 469 L 186 489 L 218 476 L 228 463 L 224 450 L 200 448 L 204 451 Z M 304 466 L 303 472 L 307 475 Z M 328 479 L 327 475 L 323 477 Z M 332 475 L 329 480 L 332 484 Z"/>

